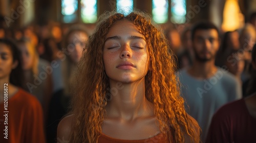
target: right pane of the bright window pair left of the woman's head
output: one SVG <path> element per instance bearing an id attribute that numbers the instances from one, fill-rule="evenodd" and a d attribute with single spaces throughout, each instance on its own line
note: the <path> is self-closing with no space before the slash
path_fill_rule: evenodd
<path id="1" fill-rule="evenodd" d="M 81 0 L 81 18 L 84 23 L 95 23 L 97 21 L 96 0 Z"/>

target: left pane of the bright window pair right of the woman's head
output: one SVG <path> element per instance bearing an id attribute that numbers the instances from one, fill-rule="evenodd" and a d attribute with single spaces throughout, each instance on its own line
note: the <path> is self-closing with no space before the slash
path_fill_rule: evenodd
<path id="1" fill-rule="evenodd" d="M 153 0 L 152 15 L 157 23 L 165 23 L 168 20 L 168 1 Z"/>

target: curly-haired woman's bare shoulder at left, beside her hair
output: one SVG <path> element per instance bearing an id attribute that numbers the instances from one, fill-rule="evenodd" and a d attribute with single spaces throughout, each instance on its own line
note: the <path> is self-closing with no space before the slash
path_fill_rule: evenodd
<path id="1" fill-rule="evenodd" d="M 69 141 L 70 134 L 71 134 L 71 124 L 73 121 L 73 114 L 68 115 L 59 122 L 57 128 L 57 140 L 58 141 Z"/>

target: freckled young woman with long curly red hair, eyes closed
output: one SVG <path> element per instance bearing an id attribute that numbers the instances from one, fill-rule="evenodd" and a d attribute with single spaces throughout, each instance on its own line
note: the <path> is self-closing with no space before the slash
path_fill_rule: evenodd
<path id="1" fill-rule="evenodd" d="M 79 62 L 72 112 L 58 125 L 69 142 L 199 142 L 184 109 L 173 53 L 150 16 L 102 15 Z"/>

